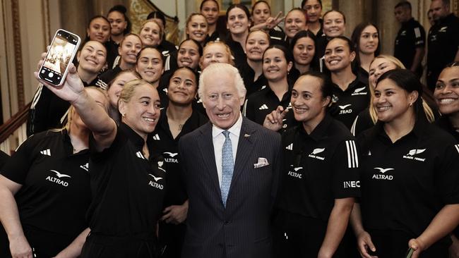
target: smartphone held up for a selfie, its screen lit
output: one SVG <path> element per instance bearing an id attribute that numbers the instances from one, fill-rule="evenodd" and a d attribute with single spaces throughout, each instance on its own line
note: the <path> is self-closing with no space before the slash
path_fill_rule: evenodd
<path id="1" fill-rule="evenodd" d="M 60 86 L 64 83 L 68 72 L 68 65 L 75 58 L 81 39 L 66 30 L 57 30 L 42 67 L 38 70 L 40 79 L 52 85 Z"/>

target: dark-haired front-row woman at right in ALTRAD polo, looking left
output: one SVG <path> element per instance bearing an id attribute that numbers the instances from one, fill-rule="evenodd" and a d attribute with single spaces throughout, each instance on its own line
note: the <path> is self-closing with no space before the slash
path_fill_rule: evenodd
<path id="1" fill-rule="evenodd" d="M 459 222 L 459 150 L 427 121 L 422 88 L 410 70 L 389 70 L 377 81 L 378 123 L 358 137 L 362 197 L 352 226 L 362 257 L 403 257 L 408 247 L 416 257 L 448 257 Z"/>

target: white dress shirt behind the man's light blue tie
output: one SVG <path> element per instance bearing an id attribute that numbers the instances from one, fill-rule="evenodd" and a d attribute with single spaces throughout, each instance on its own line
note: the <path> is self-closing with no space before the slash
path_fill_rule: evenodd
<path id="1" fill-rule="evenodd" d="M 237 119 L 236 123 L 234 123 L 234 125 L 232 125 L 232 127 L 230 127 L 229 129 L 226 129 L 227 131 L 229 131 L 229 139 L 231 139 L 233 162 L 236 161 L 237 144 L 239 143 L 239 135 L 241 134 L 241 126 L 242 126 L 242 114 L 239 113 L 239 119 Z M 225 129 L 219 128 L 215 125 L 212 126 L 213 151 L 215 154 L 215 165 L 217 165 L 218 183 L 220 184 L 220 186 L 222 185 L 222 176 L 223 176 L 222 149 L 223 149 L 223 143 L 225 143 L 225 135 L 223 135 L 222 133 L 223 131 L 225 131 Z"/>

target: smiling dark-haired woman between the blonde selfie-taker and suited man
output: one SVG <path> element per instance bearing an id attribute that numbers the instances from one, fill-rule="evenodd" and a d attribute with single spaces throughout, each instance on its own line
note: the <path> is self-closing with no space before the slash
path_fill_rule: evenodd
<path id="1" fill-rule="evenodd" d="M 167 245 L 163 257 L 180 257 L 188 212 L 188 196 L 181 179 L 181 157 L 177 156 L 179 139 L 207 122 L 205 116 L 193 109 L 198 92 L 198 76 L 188 67 L 178 68 L 167 87 L 169 105 L 162 109 L 160 121 L 150 134 L 155 153 L 165 157 L 167 190 L 160 222 L 160 240 Z"/>

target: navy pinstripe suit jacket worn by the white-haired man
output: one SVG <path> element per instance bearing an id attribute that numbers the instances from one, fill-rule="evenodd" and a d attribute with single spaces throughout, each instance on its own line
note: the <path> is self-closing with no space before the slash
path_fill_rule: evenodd
<path id="1" fill-rule="evenodd" d="M 189 195 L 182 257 L 271 256 L 270 216 L 281 166 L 280 135 L 243 118 L 226 208 L 213 150 L 212 124 L 179 140 Z M 255 168 L 258 158 L 268 166 Z"/>

